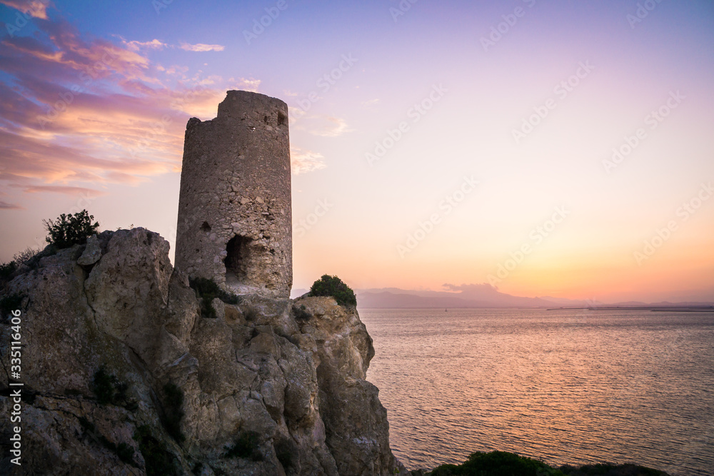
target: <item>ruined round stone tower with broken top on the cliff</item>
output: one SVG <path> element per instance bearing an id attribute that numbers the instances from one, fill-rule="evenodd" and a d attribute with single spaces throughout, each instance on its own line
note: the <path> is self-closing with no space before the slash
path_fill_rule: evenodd
<path id="1" fill-rule="evenodd" d="M 293 283 L 288 106 L 228 91 L 186 124 L 176 268 L 236 294 L 288 298 Z"/>

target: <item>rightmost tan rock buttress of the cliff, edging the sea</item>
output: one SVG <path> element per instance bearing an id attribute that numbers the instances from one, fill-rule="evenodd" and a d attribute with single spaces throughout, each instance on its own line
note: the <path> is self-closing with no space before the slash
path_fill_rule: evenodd
<path id="1" fill-rule="evenodd" d="M 365 380 L 374 348 L 357 311 L 337 305 L 334 298 L 303 298 L 296 305 L 308 315 L 300 320 L 301 330 L 315 342 L 320 415 L 338 472 L 402 471 L 389 450 L 387 411 L 379 390 Z"/>

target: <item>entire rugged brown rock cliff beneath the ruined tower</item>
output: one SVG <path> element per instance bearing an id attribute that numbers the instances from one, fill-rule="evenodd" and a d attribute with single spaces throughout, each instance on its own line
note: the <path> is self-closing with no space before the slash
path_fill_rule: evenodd
<path id="1" fill-rule="evenodd" d="M 204 318 L 168 251 L 144 228 L 104 232 L 6 285 L 23 297 L 22 466 L 2 418 L 1 474 L 408 474 L 365 380 L 374 350 L 356 310 L 253 296 L 215 299 Z M 101 258 L 78 263 L 89 254 Z M 0 329 L 9 415 L 13 331 Z"/>

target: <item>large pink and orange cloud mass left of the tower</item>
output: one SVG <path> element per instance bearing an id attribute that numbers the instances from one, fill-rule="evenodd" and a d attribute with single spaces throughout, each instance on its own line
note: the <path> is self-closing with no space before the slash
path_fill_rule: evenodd
<path id="1" fill-rule="evenodd" d="M 159 40 L 113 43 L 62 19 L 31 21 L 32 36 L 0 39 L 0 183 L 25 193 L 96 194 L 97 183 L 178 171 L 188 118 L 213 118 L 227 89 L 260 85 L 169 74 L 144 54 Z"/>

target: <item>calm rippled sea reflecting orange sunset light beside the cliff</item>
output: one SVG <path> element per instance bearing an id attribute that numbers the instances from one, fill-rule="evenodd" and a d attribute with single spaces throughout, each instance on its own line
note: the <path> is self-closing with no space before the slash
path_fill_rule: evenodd
<path id="1" fill-rule="evenodd" d="M 714 313 L 364 309 L 410 469 L 504 450 L 714 475 Z"/>

